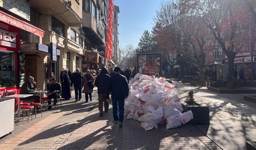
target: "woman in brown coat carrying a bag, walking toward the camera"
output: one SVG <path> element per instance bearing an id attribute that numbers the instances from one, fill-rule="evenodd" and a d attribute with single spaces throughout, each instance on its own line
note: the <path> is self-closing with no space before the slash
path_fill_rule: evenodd
<path id="1" fill-rule="evenodd" d="M 83 87 L 83 91 L 82 93 L 85 93 L 85 102 L 88 102 L 88 95 L 90 97 L 90 101 L 92 101 L 92 92 L 93 92 L 93 88 L 90 89 L 88 86 L 88 83 L 92 83 L 94 81 L 94 78 L 92 76 L 92 74 L 90 74 L 90 70 L 86 70 L 86 74 L 83 77 L 82 80 L 82 87 Z"/>

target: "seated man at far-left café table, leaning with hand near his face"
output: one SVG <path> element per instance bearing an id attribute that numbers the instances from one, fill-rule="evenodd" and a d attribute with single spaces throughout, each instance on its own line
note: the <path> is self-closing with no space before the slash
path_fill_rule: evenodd
<path id="1" fill-rule="evenodd" d="M 31 94 L 29 92 L 34 92 L 36 90 L 36 82 L 34 82 L 34 78 L 32 76 L 28 77 L 28 81 L 25 82 L 20 88 L 20 94 Z M 39 102 L 39 96 L 33 95 L 26 98 L 22 98 L 22 101 L 27 102 Z"/>

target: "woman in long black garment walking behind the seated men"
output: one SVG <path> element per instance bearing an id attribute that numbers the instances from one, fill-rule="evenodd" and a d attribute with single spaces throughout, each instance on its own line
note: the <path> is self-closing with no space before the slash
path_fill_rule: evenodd
<path id="1" fill-rule="evenodd" d="M 68 70 L 63 70 L 63 83 L 62 83 L 62 94 L 61 97 L 65 98 L 65 100 L 69 100 L 71 98 L 70 93 L 70 78 L 68 77 Z"/>

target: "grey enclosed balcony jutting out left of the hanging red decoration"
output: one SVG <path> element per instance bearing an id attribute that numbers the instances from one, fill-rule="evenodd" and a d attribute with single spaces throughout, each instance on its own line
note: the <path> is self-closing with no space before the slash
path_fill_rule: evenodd
<path id="1" fill-rule="evenodd" d="M 97 28 L 98 26 L 98 28 Z M 92 13 L 83 11 L 83 28 L 85 31 L 85 35 L 89 38 L 89 40 L 97 45 L 104 45 L 105 39 L 100 33 L 102 26 L 100 22 L 97 25 L 97 20 L 92 16 Z M 104 34 L 104 33 L 102 33 Z"/>

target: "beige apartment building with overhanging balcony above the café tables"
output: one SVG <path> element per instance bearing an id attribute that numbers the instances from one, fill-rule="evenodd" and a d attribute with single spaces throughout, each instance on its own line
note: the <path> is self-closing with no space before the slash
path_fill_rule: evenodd
<path id="1" fill-rule="evenodd" d="M 60 82 L 63 69 L 82 68 L 82 0 L 30 0 L 30 22 L 44 36 L 21 32 L 25 78 L 35 77 L 38 88 L 46 89 L 46 70 Z"/>

